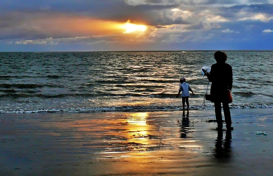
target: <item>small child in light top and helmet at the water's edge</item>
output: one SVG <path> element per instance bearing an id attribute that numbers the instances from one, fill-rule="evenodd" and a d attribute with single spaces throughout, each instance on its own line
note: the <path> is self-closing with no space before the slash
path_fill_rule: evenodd
<path id="1" fill-rule="evenodd" d="M 179 97 L 179 94 L 182 91 L 181 97 L 182 97 L 183 111 L 185 111 L 185 101 L 187 103 L 187 110 L 189 110 L 189 96 L 190 96 L 189 91 L 192 92 L 192 89 L 189 86 L 189 84 L 186 83 L 186 78 L 185 77 L 180 78 L 180 82 L 181 82 L 181 84 L 179 86 L 179 92 L 176 95 L 176 98 Z M 193 92 L 192 92 L 192 95 L 194 95 Z"/>

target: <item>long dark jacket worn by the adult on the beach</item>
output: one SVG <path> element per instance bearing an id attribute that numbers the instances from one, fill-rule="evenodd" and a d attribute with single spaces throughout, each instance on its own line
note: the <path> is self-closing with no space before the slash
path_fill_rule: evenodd
<path id="1" fill-rule="evenodd" d="M 210 95 L 213 102 L 227 102 L 227 92 L 232 89 L 232 67 L 226 63 L 213 64 L 207 78 L 212 82 Z"/>

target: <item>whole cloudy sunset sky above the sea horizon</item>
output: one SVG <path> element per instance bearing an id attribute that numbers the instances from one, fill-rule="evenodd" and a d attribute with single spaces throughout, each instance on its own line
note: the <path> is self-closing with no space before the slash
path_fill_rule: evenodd
<path id="1" fill-rule="evenodd" d="M 0 51 L 273 50 L 273 0 L 0 3 Z"/>

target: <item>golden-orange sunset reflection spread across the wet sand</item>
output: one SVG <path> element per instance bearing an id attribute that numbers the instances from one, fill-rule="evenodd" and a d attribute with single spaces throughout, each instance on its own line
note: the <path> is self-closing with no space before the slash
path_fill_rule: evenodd
<path id="1" fill-rule="evenodd" d="M 58 138 L 56 142 L 60 145 L 79 146 L 77 152 L 113 154 L 163 151 L 177 146 L 200 148 L 193 144 L 195 140 L 182 140 L 192 138 L 196 131 L 194 123 L 189 122 L 189 112 L 187 120 L 183 117 L 184 120 L 178 125 L 177 118 L 172 114 L 161 117 L 160 114 L 133 112 L 89 116 L 90 114 L 81 114 L 80 117 L 66 120 L 44 120 L 46 123 L 41 125 L 44 129 L 53 129 L 47 131 Z"/>

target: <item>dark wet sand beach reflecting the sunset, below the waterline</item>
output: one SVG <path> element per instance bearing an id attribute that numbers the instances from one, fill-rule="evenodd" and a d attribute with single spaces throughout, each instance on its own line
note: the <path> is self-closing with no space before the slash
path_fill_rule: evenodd
<path id="1" fill-rule="evenodd" d="M 231 114 L 0 114 L 0 175 L 273 175 L 273 109 Z"/>

